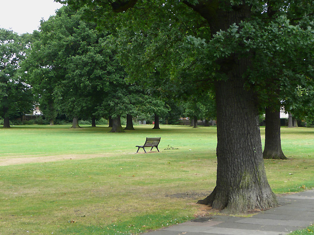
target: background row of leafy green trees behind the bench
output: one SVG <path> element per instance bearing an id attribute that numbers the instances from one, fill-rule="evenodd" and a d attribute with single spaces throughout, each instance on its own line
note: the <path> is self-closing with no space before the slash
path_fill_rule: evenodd
<path id="1" fill-rule="evenodd" d="M 123 131 L 121 116 L 127 116 L 126 129 L 133 129 L 132 117 L 145 113 L 155 116 L 154 128 L 159 128 L 159 116 L 169 118 L 173 115 L 170 110 L 179 110 L 172 117 L 175 119 L 183 115 L 196 120 L 214 117 L 214 108 L 207 103 L 202 104 L 201 101 L 204 103 L 205 99 L 198 101 L 194 97 L 193 102 L 184 100 L 186 96 L 174 99 L 174 95 L 160 87 L 157 81 L 153 87 L 145 82 L 130 81 L 120 63 L 115 35 L 110 28 L 96 30 L 95 22 L 82 19 L 85 10 L 62 7 L 56 16 L 41 22 L 40 31 L 22 36 L 27 37 L 27 44 L 16 41 L 15 44 L 19 46 L 16 48 L 5 41 L 9 40 L 5 33 L 16 39 L 22 37 L 2 29 L 1 45 L 14 49 L 10 56 L 16 59 L 7 59 L 8 65 L 15 66 L 16 75 L 6 72 L 11 75 L 5 81 L 11 79 L 12 86 L 22 84 L 27 90 L 27 97 L 21 96 L 21 90 L 17 87 L 10 89 L 17 93 L 15 96 L 3 90 L 3 96 L 12 103 L 24 102 L 24 106 L 20 105 L 23 109 L 1 102 L 7 107 L 5 109 L 12 110 L 3 112 L 4 127 L 9 127 L 9 118 L 27 113 L 34 102 L 40 104 L 51 125 L 58 113 L 73 118 L 73 128 L 79 127 L 78 119 L 91 118 L 95 126 L 96 119 L 106 117 L 112 120 L 112 132 Z M 16 56 L 17 53 L 20 57 Z M 5 73 L 5 70 L 1 71 Z M 15 76 L 14 80 L 12 76 Z"/>

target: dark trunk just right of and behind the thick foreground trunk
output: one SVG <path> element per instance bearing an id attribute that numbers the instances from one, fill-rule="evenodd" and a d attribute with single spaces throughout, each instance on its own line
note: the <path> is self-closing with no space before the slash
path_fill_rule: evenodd
<path id="1" fill-rule="evenodd" d="M 264 159 L 287 160 L 281 148 L 280 139 L 280 110 L 274 111 L 266 108 L 265 112 L 265 146 L 263 151 Z"/>

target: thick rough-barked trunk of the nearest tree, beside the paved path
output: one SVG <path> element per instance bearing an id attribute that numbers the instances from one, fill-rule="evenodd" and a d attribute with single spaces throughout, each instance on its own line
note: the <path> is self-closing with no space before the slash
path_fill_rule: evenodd
<path id="1" fill-rule="evenodd" d="M 215 83 L 217 105 L 217 180 L 198 201 L 227 213 L 277 207 L 266 177 L 255 94 L 243 89 L 249 58 L 237 58 L 229 80 Z"/>

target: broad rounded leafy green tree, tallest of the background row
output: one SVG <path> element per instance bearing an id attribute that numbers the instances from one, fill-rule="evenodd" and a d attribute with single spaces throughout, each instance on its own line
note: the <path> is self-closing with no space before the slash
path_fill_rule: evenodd
<path id="1" fill-rule="evenodd" d="M 104 46 L 106 31 L 84 21 L 78 11 L 64 6 L 42 21 L 35 32 L 28 76 L 39 94 L 44 114 L 55 118 L 55 107 L 73 118 L 99 118 L 110 79 L 115 79 L 111 48 Z"/>

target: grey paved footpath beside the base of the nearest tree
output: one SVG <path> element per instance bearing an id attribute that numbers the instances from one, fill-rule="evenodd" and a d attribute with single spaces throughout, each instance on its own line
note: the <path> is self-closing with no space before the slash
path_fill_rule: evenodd
<path id="1" fill-rule="evenodd" d="M 314 190 L 278 198 L 280 207 L 250 218 L 215 215 L 145 235 L 287 235 L 314 223 Z"/>

